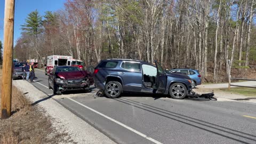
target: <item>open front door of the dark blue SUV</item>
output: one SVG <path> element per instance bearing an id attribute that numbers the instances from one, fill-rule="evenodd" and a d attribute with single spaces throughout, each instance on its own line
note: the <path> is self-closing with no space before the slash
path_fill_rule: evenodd
<path id="1" fill-rule="evenodd" d="M 156 75 L 156 85 L 154 89 L 157 90 L 156 93 L 163 94 L 166 90 L 167 76 L 166 76 L 165 70 L 160 65 L 160 63 L 158 63 L 156 60 L 155 60 L 155 63 L 157 68 L 157 75 Z"/>

